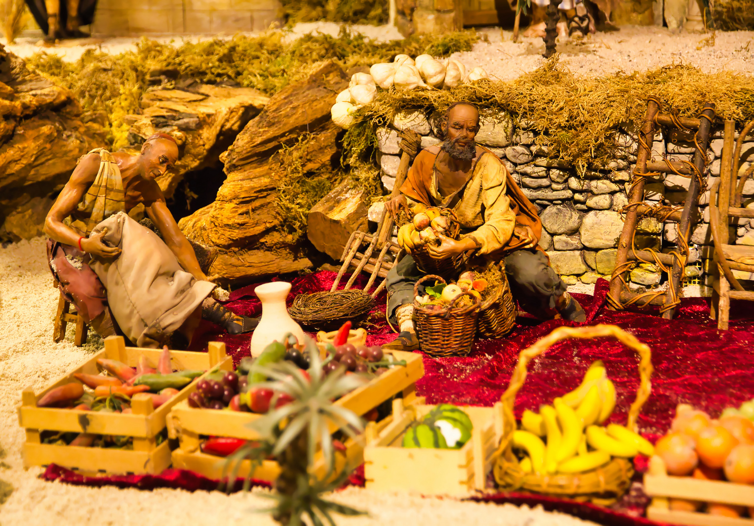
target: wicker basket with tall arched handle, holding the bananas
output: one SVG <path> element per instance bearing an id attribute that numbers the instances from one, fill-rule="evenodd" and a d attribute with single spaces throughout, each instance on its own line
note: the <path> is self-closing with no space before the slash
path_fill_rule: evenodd
<path id="1" fill-rule="evenodd" d="M 516 429 L 516 417 L 513 416 L 513 401 L 526 379 L 526 365 L 532 358 L 541 355 L 546 349 L 560 340 L 567 338 L 590 339 L 612 336 L 633 349 L 641 358 L 639 361 L 639 389 L 636 399 L 628 411 L 628 429 L 635 429 L 636 418 L 642 405 L 649 397 L 652 374 L 651 351 L 647 345 L 636 340 L 636 337 L 623 331 L 615 325 L 595 325 L 594 327 L 560 327 L 546 337 L 538 340 L 528 349 L 521 351 L 510 383 L 501 397 L 503 403 L 503 438 L 496 454 L 493 472 L 495 481 L 503 491 L 526 490 L 539 494 L 549 494 L 556 497 L 566 497 L 574 500 L 588 500 L 590 502 L 608 506 L 618 500 L 631 484 L 633 466 L 630 461 L 616 458 L 605 466 L 588 472 L 559 475 L 539 475 L 525 473 L 518 460 L 513 455 L 511 438 Z"/>

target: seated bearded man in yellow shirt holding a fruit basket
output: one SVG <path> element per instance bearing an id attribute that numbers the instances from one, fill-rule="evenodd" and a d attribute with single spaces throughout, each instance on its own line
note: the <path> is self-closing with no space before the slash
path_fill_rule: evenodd
<path id="1" fill-rule="evenodd" d="M 397 217 L 401 209 L 421 203 L 451 208 L 461 226 L 458 240 L 437 235 L 428 245 L 437 260 L 473 254 L 488 262 L 504 261 L 513 298 L 538 318 L 559 314 L 569 321 L 586 321 L 581 305 L 566 292 L 566 284 L 538 246 L 542 232 L 537 209 L 516 186 L 505 165 L 489 149 L 477 145 L 479 111 L 470 103 L 453 103 L 441 125 L 444 142 L 423 149 L 413 161 L 400 193 L 385 205 Z M 388 321 L 400 334 L 386 349 L 415 350 L 414 285 L 422 277 L 411 256 L 388 272 Z"/>

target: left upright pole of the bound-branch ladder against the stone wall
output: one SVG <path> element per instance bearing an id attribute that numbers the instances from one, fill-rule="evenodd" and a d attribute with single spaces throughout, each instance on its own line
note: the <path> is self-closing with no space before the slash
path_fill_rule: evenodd
<path id="1" fill-rule="evenodd" d="M 647 171 L 647 161 L 651 157 L 652 142 L 654 141 L 654 117 L 657 112 L 660 111 L 660 106 L 654 99 L 647 101 L 647 114 L 644 118 L 644 125 L 642 126 L 642 139 L 646 144 L 646 148 L 639 143 L 639 155 L 636 155 L 636 173 L 645 174 Z M 640 203 L 644 201 L 644 183 L 645 177 L 639 177 L 636 183 L 631 186 L 631 195 L 628 199 L 629 204 Z M 636 211 L 636 207 L 633 207 L 626 213 L 626 220 L 621 231 L 621 238 L 618 241 L 618 254 L 615 257 L 615 266 L 621 266 L 628 260 L 628 249 L 631 245 L 631 238 L 633 238 L 633 232 L 636 230 L 636 221 L 639 220 L 639 213 Z M 621 288 L 623 282 L 621 276 L 616 275 L 610 280 L 610 297 L 615 300 L 616 303 L 621 303 Z M 608 308 L 612 308 L 609 306 Z"/>

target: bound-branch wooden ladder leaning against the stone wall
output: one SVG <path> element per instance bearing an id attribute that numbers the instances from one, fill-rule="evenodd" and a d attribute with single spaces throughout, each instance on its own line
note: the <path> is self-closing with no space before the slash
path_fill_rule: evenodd
<path id="1" fill-rule="evenodd" d="M 708 163 L 706 156 L 707 143 L 715 118 L 715 104 L 704 104 L 699 118 L 685 118 L 673 113 L 661 113 L 661 103 L 655 97 L 647 101 L 647 113 L 644 125 L 639 133 L 639 151 L 636 155 L 636 168 L 633 171 L 636 182 L 630 190 L 629 202 L 624 211 L 626 219 L 618 241 L 618 255 L 615 270 L 610 278 L 610 293 L 608 306 L 611 309 L 622 310 L 626 306 L 645 307 L 660 306 L 663 318 L 673 319 L 676 308 L 680 303 L 679 292 L 688 258 L 688 240 L 691 237 L 692 226 L 699 220 L 699 194 L 702 191 L 703 172 Z M 654 134 L 659 126 L 670 128 L 669 133 L 684 142 L 694 143 L 694 161 L 652 161 L 651 151 Z M 678 174 L 691 177 L 688 185 L 683 208 L 673 208 L 661 204 L 652 206 L 644 202 L 644 186 L 647 177 L 657 177 L 660 174 Z M 641 217 L 655 217 L 657 220 L 678 223 L 676 249 L 670 254 L 661 254 L 652 249 L 636 250 L 633 238 L 636 234 L 636 223 Z M 668 274 L 667 292 L 632 293 L 627 290 L 625 275 L 636 263 L 654 263 Z M 672 267 L 672 269 L 670 268 Z"/>

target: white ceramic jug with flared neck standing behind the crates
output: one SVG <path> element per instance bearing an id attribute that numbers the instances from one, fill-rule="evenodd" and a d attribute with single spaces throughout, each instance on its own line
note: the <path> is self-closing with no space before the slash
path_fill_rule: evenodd
<path id="1" fill-rule="evenodd" d="M 288 315 L 285 300 L 289 292 L 290 283 L 286 281 L 273 281 L 254 289 L 254 294 L 262 301 L 262 319 L 251 337 L 253 358 L 262 354 L 268 344 L 275 340 L 282 341 L 287 333 L 292 333 L 299 342 L 304 341 L 301 326 Z"/>

